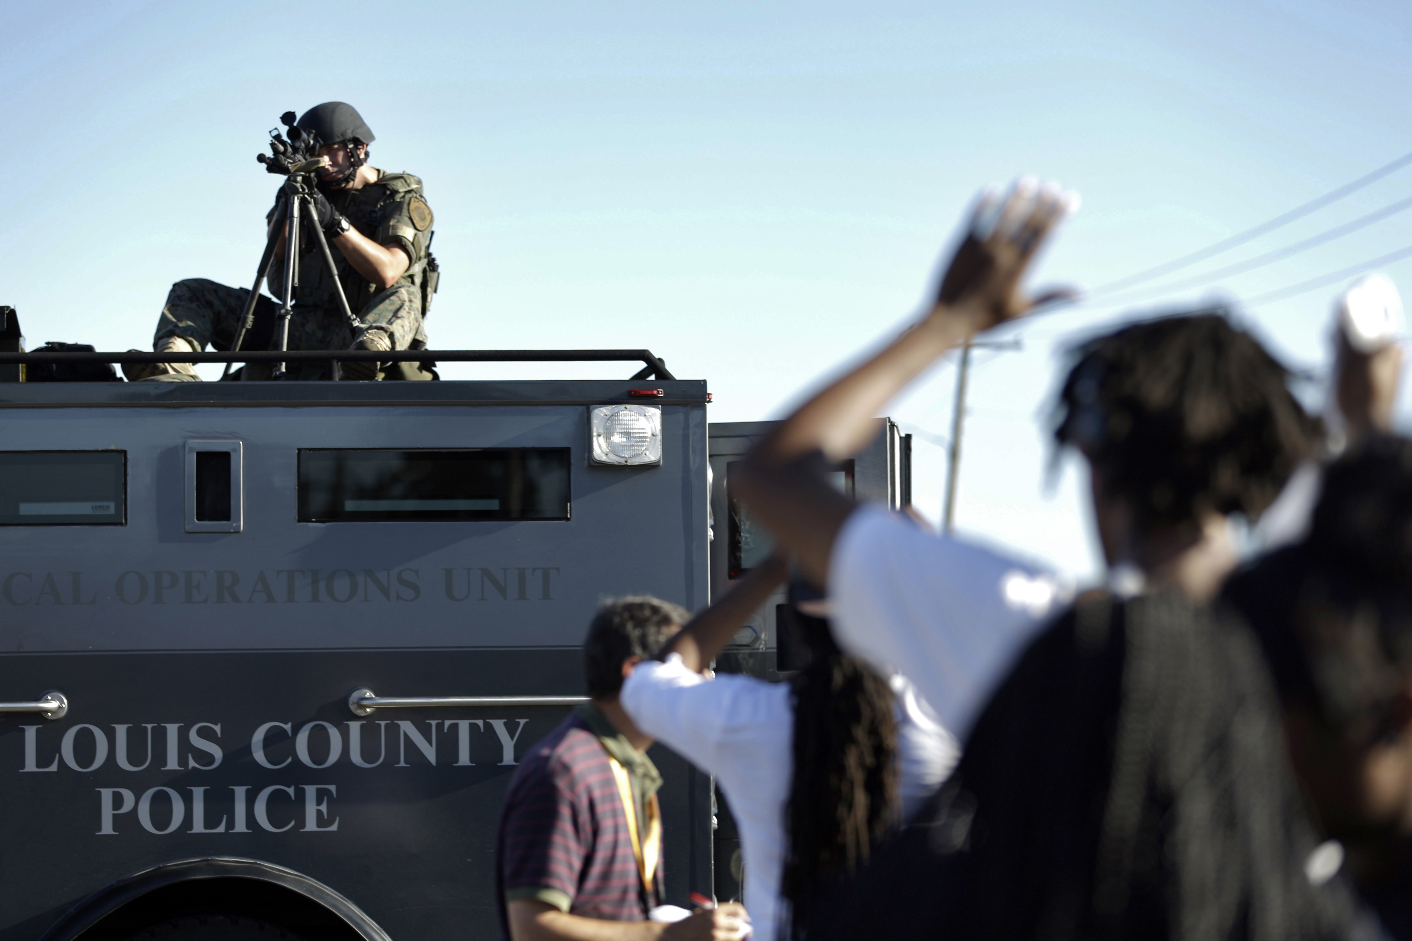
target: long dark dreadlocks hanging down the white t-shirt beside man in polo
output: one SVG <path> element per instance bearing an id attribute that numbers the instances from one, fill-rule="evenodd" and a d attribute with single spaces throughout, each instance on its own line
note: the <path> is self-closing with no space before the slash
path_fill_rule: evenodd
<path id="1" fill-rule="evenodd" d="M 867 862 L 898 824 L 897 720 L 888 681 L 843 653 L 826 621 L 795 615 L 810 659 L 794 679 L 794 780 L 779 894 L 802 938 L 820 890 Z"/>

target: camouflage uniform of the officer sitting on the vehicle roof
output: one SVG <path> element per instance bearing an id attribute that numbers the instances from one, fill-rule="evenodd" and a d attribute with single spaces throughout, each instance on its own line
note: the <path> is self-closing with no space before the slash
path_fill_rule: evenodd
<path id="1" fill-rule="evenodd" d="M 325 193 L 339 213 L 361 234 L 380 245 L 397 245 L 411 260 L 407 271 L 391 288 L 380 289 L 347 262 L 337 245 L 330 244 L 339 282 L 349 309 L 361 322 L 354 330 L 339 308 L 337 293 L 328 267 L 319 257 L 318 243 L 301 241 L 299 285 L 294 295 L 294 315 L 289 317 L 291 350 L 346 350 L 369 330 L 383 330 L 394 350 L 425 350 L 426 330 L 422 326 L 422 279 L 426 269 L 428 237 L 432 212 L 422 199 L 422 181 L 411 174 L 378 171 L 376 183 L 361 189 Z M 273 210 L 271 210 L 273 214 Z M 284 257 L 275 258 L 268 278 L 270 292 L 284 289 Z M 188 278 L 172 285 L 157 323 L 154 348 L 171 336 L 182 336 L 205 348 L 229 350 L 240 329 L 250 291 L 230 288 L 205 278 Z M 256 329 L 247 334 L 241 348 L 274 347 L 271 316 L 277 303 L 261 296 L 256 310 Z M 268 326 L 267 326 L 268 324 Z M 263 333 L 263 336 L 261 336 Z M 291 364 L 292 378 L 328 378 L 325 364 Z M 378 378 L 432 378 L 415 364 L 388 367 Z M 243 378 L 268 378 L 270 368 L 250 364 Z"/>

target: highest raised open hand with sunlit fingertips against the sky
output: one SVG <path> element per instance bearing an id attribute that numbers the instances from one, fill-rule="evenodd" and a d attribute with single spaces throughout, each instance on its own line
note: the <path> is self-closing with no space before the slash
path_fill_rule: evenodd
<path id="1" fill-rule="evenodd" d="M 1077 193 L 1058 183 L 1041 186 L 1031 178 L 1015 182 L 1004 198 L 994 189 L 983 192 L 942 277 L 929 316 L 962 313 L 974 319 L 973 329 L 979 332 L 1038 306 L 1072 299 L 1076 292 L 1069 288 L 1031 298 L 1019 282 L 1055 226 L 1077 207 Z"/>

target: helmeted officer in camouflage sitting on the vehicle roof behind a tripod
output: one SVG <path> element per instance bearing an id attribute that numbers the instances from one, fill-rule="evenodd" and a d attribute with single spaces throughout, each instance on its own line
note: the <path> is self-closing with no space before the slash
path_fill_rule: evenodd
<path id="1" fill-rule="evenodd" d="M 289 319 L 291 350 L 422 350 L 424 285 L 432 210 L 422 196 L 422 181 L 411 174 L 388 174 L 367 164 L 373 131 L 352 104 L 326 102 L 309 109 L 297 121 L 306 134 L 316 134 L 328 166 L 318 171 L 315 209 L 333 254 L 337 277 L 349 309 L 357 315 L 354 330 L 343 316 L 328 267 L 316 243 L 301 241 L 299 285 Z M 273 214 L 274 210 L 271 210 Z M 284 285 L 284 238 L 275 251 L 268 285 L 280 293 Z M 250 292 L 205 278 L 172 285 L 157 323 L 152 348 L 158 353 L 201 351 L 209 343 L 229 350 L 240 329 Z M 274 343 L 277 305 L 261 296 L 256 324 L 241 341 L 244 350 L 268 350 Z M 199 381 L 185 363 L 124 365 L 131 381 Z M 247 364 L 244 380 L 268 378 L 268 364 Z M 292 363 L 291 378 L 330 378 L 322 363 Z M 415 363 L 346 363 L 345 380 L 429 380 Z"/>

